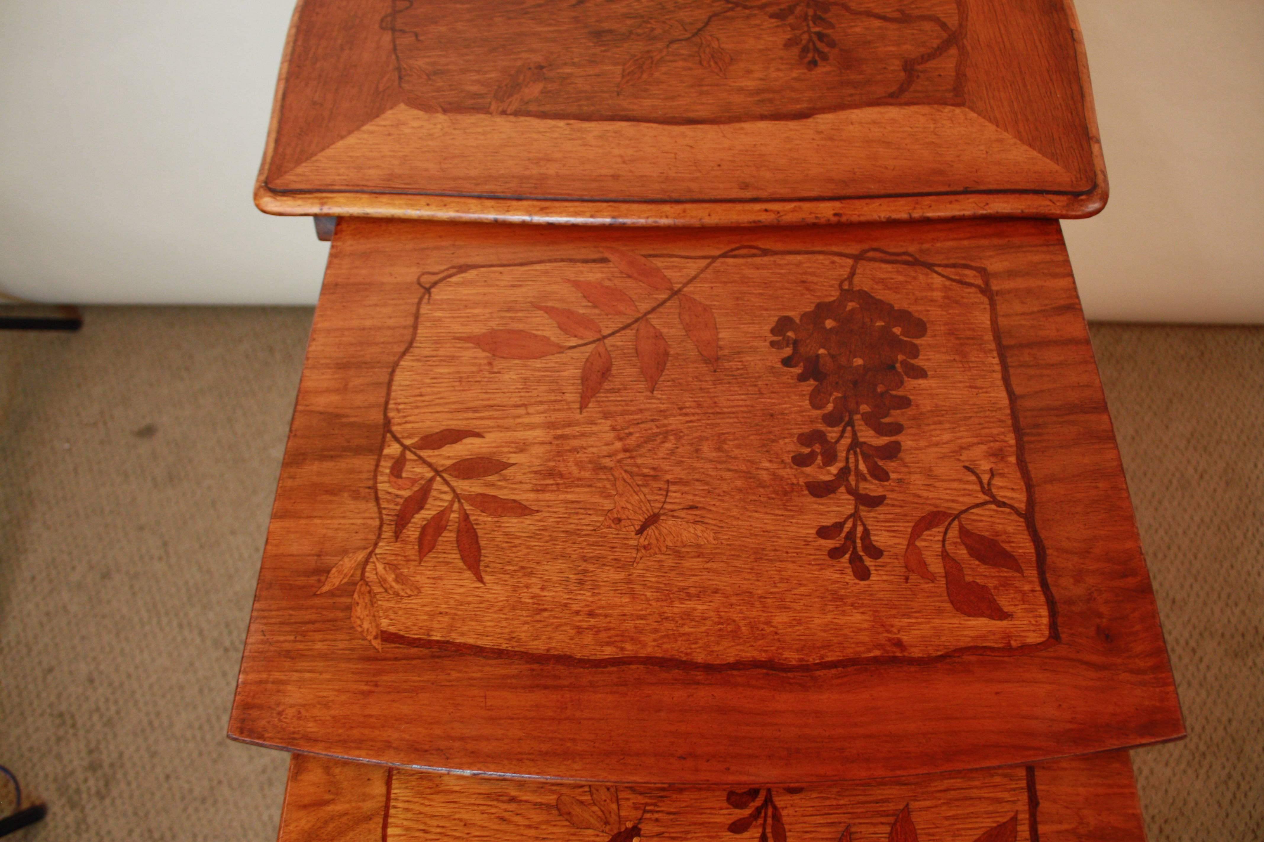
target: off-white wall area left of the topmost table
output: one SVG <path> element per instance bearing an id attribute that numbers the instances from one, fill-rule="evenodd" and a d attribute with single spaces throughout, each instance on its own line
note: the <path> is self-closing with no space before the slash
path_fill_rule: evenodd
<path id="1" fill-rule="evenodd" d="M 0 290 L 315 302 L 327 245 L 250 198 L 292 9 L 0 1 Z"/>

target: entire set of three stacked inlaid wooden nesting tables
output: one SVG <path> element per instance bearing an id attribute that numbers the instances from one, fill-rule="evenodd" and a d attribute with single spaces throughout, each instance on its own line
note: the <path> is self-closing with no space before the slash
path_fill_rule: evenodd
<path id="1" fill-rule="evenodd" d="M 1069 4 L 300 4 L 282 838 L 1140 838 L 1093 120 Z"/>

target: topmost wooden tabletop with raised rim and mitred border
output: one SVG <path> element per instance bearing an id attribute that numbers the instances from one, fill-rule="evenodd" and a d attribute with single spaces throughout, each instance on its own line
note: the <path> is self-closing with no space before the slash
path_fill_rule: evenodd
<path id="1" fill-rule="evenodd" d="M 1069 3 L 710 3 L 303 0 L 257 202 L 648 225 L 1105 205 Z"/>

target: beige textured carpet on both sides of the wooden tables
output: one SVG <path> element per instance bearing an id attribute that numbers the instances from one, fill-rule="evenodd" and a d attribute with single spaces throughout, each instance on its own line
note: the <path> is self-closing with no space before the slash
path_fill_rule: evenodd
<path id="1" fill-rule="evenodd" d="M 51 809 L 13 838 L 274 837 L 286 757 L 224 730 L 310 321 L 0 333 L 0 764 Z M 1191 732 L 1135 756 L 1150 838 L 1264 838 L 1264 329 L 1093 340 Z"/>

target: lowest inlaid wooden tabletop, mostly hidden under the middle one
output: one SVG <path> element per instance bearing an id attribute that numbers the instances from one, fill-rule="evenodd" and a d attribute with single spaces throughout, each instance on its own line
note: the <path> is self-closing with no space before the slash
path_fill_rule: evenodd
<path id="1" fill-rule="evenodd" d="M 910 833 L 913 831 L 913 833 Z M 1125 752 L 846 785 L 583 786 L 295 755 L 279 842 L 1144 842 Z"/>

